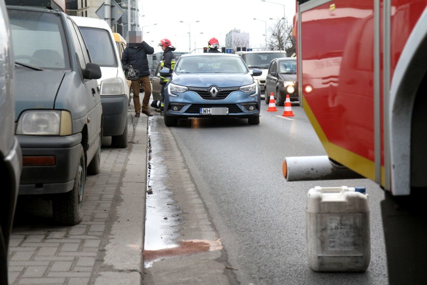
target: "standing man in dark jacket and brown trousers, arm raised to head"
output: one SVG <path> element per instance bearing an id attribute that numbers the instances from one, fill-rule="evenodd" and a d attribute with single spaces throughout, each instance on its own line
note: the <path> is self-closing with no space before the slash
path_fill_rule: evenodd
<path id="1" fill-rule="evenodd" d="M 140 31 L 129 31 L 128 46 L 122 54 L 122 64 L 132 65 L 139 71 L 137 80 L 132 80 L 133 89 L 133 104 L 135 106 L 135 117 L 139 117 L 142 112 L 147 116 L 152 116 L 148 110 L 148 102 L 151 96 L 150 84 L 150 69 L 148 66 L 147 54 L 153 54 L 154 48 L 150 47 L 146 42 L 142 41 L 142 33 Z M 144 98 L 142 99 L 142 107 L 139 99 L 139 88 L 144 89 Z"/>

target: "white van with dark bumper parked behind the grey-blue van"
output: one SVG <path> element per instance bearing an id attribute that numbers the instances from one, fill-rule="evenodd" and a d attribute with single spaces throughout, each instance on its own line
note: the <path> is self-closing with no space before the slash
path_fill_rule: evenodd
<path id="1" fill-rule="evenodd" d="M 82 31 L 91 60 L 101 68 L 103 136 L 111 136 L 111 146 L 127 148 L 129 87 L 113 32 L 105 20 L 71 16 Z"/>

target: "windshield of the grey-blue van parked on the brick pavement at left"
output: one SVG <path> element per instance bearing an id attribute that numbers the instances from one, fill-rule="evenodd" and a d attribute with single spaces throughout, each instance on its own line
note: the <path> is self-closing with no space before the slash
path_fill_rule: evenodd
<path id="1" fill-rule="evenodd" d="M 41 69 L 70 69 L 60 17 L 54 13 L 23 13 L 13 9 L 8 14 L 15 61 L 18 64 Z"/>

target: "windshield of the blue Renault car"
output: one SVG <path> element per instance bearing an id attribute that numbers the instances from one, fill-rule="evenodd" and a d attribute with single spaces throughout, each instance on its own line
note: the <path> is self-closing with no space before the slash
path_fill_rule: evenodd
<path id="1" fill-rule="evenodd" d="M 181 57 L 175 66 L 176 73 L 247 73 L 248 69 L 240 57 L 234 56 L 191 56 Z"/>

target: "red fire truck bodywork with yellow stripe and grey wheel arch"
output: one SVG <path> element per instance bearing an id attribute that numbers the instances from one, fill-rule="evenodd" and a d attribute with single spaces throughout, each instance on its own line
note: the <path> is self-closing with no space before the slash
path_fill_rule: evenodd
<path id="1" fill-rule="evenodd" d="M 418 118 L 425 117 L 426 5 L 312 0 L 297 8 L 305 112 L 331 160 L 392 195 L 427 187 L 427 127 Z"/>

